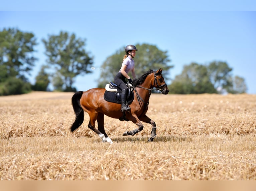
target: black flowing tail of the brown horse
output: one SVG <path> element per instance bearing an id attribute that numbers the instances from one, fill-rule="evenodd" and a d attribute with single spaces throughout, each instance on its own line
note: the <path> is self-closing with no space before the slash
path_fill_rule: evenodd
<path id="1" fill-rule="evenodd" d="M 75 121 L 70 127 L 70 130 L 72 132 L 75 131 L 78 127 L 80 127 L 82 125 L 82 123 L 84 122 L 85 113 L 84 113 L 84 109 L 80 105 L 80 99 L 81 99 L 83 93 L 84 92 L 79 91 L 79 92 L 76 92 L 72 96 L 71 104 L 73 106 L 74 113 L 76 114 Z"/>

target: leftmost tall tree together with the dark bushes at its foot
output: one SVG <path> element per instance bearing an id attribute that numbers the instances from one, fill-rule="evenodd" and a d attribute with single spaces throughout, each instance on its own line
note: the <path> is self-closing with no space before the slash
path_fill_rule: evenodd
<path id="1" fill-rule="evenodd" d="M 9 28 L 0 31 L 0 95 L 31 91 L 26 75 L 37 60 L 33 57 L 36 38 L 32 33 Z"/>

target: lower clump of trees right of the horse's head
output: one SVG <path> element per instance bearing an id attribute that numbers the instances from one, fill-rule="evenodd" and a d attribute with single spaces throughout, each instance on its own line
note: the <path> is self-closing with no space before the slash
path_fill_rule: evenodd
<path id="1" fill-rule="evenodd" d="M 242 94 L 247 91 L 245 79 L 233 76 L 232 68 L 222 61 L 185 65 L 169 88 L 172 94 Z"/>

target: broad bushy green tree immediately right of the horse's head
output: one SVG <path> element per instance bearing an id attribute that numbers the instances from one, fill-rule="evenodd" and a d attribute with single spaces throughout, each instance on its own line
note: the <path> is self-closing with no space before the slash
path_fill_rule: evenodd
<path id="1" fill-rule="evenodd" d="M 169 86 L 172 94 L 217 93 L 210 81 L 207 67 L 197 63 L 185 65 Z"/>

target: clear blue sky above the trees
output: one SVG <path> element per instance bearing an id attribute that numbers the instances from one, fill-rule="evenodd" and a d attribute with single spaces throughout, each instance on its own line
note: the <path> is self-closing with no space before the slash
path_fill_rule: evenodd
<path id="1" fill-rule="evenodd" d="M 117 50 L 128 44 L 148 43 L 168 52 L 170 64 L 174 65 L 169 76 L 172 79 L 191 62 L 224 61 L 233 68 L 234 76 L 245 78 L 247 92 L 256 94 L 256 11 L 248 11 L 256 10 L 253 1 L 247 0 L 241 5 L 233 1 L 203 5 L 161 0 L 158 4 L 151 1 L 144 4 L 143 1 L 54 2 L 10 0 L 8 4 L 1 3 L 0 30 L 14 27 L 32 32 L 39 43 L 34 54 L 39 60 L 29 77 L 31 83 L 40 66 L 45 64 L 41 39 L 67 31 L 86 39 L 85 49 L 93 56 L 96 68 L 92 74 L 76 78 L 78 91 L 97 87 L 101 65 Z"/>

